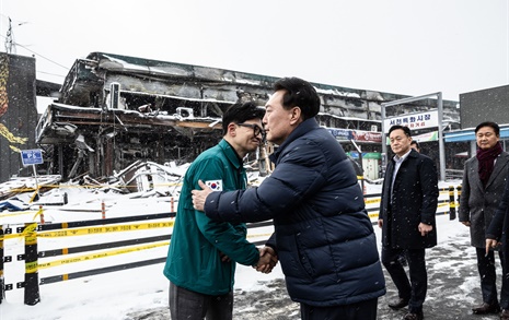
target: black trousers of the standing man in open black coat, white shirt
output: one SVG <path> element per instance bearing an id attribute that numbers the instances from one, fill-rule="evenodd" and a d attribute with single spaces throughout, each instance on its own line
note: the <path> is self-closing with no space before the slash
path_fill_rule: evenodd
<path id="1" fill-rule="evenodd" d="M 408 262 L 409 280 L 398 258 L 405 254 Z M 428 291 L 425 249 L 393 249 L 382 247 L 382 264 L 391 275 L 400 298 L 408 300 L 408 310 L 413 313 L 423 311 L 423 304 Z"/>

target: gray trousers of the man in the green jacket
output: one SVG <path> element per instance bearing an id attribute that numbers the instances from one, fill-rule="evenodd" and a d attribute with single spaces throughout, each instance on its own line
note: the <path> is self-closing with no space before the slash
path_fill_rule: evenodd
<path id="1" fill-rule="evenodd" d="M 170 282 L 170 315 L 172 320 L 231 320 L 233 292 L 222 296 L 209 296 Z"/>

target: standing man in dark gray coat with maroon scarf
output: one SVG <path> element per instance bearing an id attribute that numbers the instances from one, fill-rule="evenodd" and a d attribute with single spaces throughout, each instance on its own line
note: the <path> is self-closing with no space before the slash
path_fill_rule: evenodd
<path id="1" fill-rule="evenodd" d="M 482 122 L 475 128 L 477 153 L 465 163 L 460 199 L 460 222 L 470 227 L 471 244 L 477 254 L 483 304 L 472 309 L 474 313 L 498 313 L 500 307 L 509 319 L 509 281 L 502 276 L 500 300 L 497 293 L 495 253 L 486 254 L 487 228 L 502 199 L 509 170 L 509 153 L 500 145 L 500 128 L 495 122 Z M 500 261 L 505 257 L 499 251 Z M 507 259 L 507 258 L 506 258 Z"/>

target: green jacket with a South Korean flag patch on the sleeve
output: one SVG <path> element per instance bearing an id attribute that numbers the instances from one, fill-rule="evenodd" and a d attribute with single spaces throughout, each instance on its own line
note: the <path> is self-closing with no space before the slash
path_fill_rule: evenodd
<path id="1" fill-rule="evenodd" d="M 164 275 L 176 286 L 223 295 L 233 288 L 235 262 L 256 264 L 259 253 L 246 240 L 245 224 L 213 222 L 193 209 L 190 191 L 200 189 L 199 179 L 228 191 L 245 189 L 247 178 L 242 159 L 225 140 L 193 162 L 184 176 Z M 220 252 L 231 262 L 222 262 Z"/>

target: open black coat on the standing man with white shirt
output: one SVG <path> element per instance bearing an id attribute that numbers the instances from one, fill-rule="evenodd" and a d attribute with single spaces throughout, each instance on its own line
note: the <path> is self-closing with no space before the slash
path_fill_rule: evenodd
<path id="1" fill-rule="evenodd" d="M 438 175 L 431 158 L 414 150 L 403 161 L 391 192 L 394 159 L 387 164 L 382 187 L 379 218 L 383 220 L 382 245 L 395 249 L 423 249 L 437 246 Z M 392 201 L 391 201 L 392 197 Z M 418 225 L 432 225 L 421 236 Z"/>

